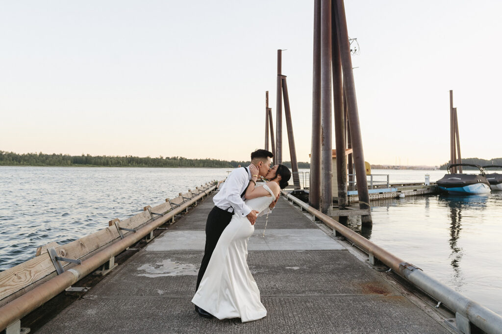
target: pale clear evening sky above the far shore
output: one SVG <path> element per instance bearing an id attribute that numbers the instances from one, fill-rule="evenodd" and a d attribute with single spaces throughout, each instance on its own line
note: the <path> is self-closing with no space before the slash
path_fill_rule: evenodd
<path id="1" fill-rule="evenodd" d="M 1 2 L 0 150 L 248 160 L 265 145 L 267 90 L 275 118 L 287 49 L 297 157 L 309 161 L 313 8 Z M 447 162 L 450 89 L 462 157 L 502 156 L 502 2 L 351 0 L 345 11 L 366 161 Z"/>

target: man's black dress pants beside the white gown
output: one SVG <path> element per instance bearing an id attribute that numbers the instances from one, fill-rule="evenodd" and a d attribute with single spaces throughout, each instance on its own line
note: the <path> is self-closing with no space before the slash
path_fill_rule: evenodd
<path id="1" fill-rule="evenodd" d="M 232 219 L 232 212 L 225 211 L 220 209 L 217 206 L 214 206 L 209 215 L 207 216 L 206 221 L 206 245 L 204 247 L 204 257 L 202 257 L 202 262 L 200 263 L 199 274 L 197 275 L 197 287 L 195 291 L 199 289 L 200 281 L 202 277 L 204 277 L 204 272 L 206 272 L 207 264 L 209 263 L 209 259 L 213 254 L 214 248 L 218 243 L 219 237 L 225 227 L 228 226 L 230 220 Z"/>

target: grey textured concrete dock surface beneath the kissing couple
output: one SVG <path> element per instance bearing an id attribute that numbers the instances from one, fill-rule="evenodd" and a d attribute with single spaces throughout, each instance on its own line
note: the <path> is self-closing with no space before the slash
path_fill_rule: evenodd
<path id="1" fill-rule="evenodd" d="M 386 273 L 349 251 L 281 198 L 260 217 L 248 263 L 268 315 L 257 321 L 200 317 L 190 302 L 212 196 L 119 265 L 40 333 L 449 333 Z"/>

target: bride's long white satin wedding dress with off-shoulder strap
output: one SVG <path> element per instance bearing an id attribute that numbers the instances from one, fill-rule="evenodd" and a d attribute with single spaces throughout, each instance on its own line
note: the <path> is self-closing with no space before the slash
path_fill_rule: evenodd
<path id="1" fill-rule="evenodd" d="M 271 196 L 246 200 L 246 205 L 260 213 L 272 203 Z M 192 302 L 218 319 L 238 318 L 253 321 L 267 315 L 260 301 L 260 290 L 247 266 L 247 240 L 255 226 L 247 217 L 234 214 L 214 248 L 206 272 Z"/>

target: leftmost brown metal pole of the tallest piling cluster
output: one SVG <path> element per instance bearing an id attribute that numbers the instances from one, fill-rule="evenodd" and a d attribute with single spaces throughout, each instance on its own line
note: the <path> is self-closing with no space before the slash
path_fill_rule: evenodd
<path id="1" fill-rule="evenodd" d="M 309 205 L 318 210 L 321 198 L 321 0 L 314 0 L 313 59 Z"/>

